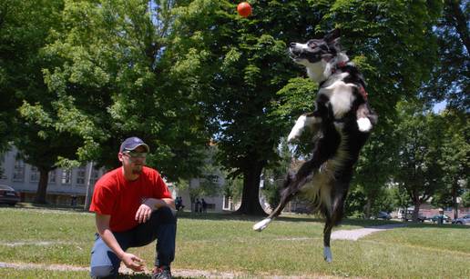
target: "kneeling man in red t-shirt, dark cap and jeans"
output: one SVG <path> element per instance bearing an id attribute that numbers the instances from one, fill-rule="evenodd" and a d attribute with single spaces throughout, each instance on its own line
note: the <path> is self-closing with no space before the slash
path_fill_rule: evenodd
<path id="1" fill-rule="evenodd" d="M 122 166 L 103 175 L 95 185 L 90 206 L 97 224 L 90 264 L 93 278 L 116 278 L 121 261 L 133 271 L 143 271 L 143 261 L 126 250 L 155 239 L 152 278 L 171 278 L 177 228 L 175 203 L 158 171 L 145 166 L 148 151 L 141 139 L 129 137 L 117 154 Z"/>

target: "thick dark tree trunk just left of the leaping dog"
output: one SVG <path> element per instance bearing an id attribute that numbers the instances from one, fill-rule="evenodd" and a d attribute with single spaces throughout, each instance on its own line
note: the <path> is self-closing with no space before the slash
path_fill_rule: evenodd
<path id="1" fill-rule="evenodd" d="M 255 164 L 243 173 L 241 205 L 236 214 L 266 215 L 260 204 L 261 164 Z"/>

